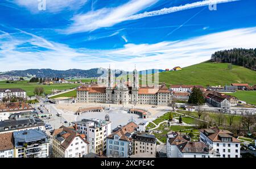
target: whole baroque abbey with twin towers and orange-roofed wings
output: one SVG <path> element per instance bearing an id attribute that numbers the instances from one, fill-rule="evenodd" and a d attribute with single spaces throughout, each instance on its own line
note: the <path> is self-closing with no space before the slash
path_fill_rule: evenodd
<path id="1" fill-rule="evenodd" d="M 116 83 L 109 69 L 105 86 L 88 85 L 77 89 L 77 103 L 168 105 L 171 99 L 171 91 L 164 83 L 157 87 L 140 87 L 136 69 L 131 82 L 120 79 Z"/>

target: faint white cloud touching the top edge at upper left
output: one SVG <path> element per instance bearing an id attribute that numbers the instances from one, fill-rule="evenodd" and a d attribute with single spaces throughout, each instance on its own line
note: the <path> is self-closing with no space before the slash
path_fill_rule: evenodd
<path id="1" fill-rule="evenodd" d="M 40 2 L 46 2 L 46 12 L 60 12 L 64 9 L 80 9 L 87 0 L 15 0 L 19 6 L 26 7 L 31 12 L 40 12 L 38 5 Z"/>

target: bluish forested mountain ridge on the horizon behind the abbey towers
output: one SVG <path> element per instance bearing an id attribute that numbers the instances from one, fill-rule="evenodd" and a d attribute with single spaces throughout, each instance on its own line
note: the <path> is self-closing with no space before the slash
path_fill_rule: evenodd
<path id="1" fill-rule="evenodd" d="M 114 71 L 114 70 L 113 70 Z M 123 70 L 115 70 L 116 76 L 124 72 Z M 151 69 L 139 71 L 140 74 L 152 74 L 157 72 L 162 72 L 164 70 L 160 69 Z M 27 69 L 27 70 L 13 70 L 6 71 L 0 74 L 0 79 L 6 79 L 10 77 L 38 77 L 38 78 L 47 78 L 47 77 L 59 77 L 59 78 L 96 78 L 100 77 L 104 72 L 108 72 L 104 68 L 94 68 L 89 70 L 81 69 L 69 69 L 69 70 L 52 70 L 52 69 Z M 114 72 L 113 72 L 114 73 Z M 129 73 L 129 72 L 127 72 Z"/>

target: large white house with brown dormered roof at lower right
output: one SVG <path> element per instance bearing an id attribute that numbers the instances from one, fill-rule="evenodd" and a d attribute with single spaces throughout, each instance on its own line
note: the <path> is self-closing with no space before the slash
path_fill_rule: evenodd
<path id="1" fill-rule="evenodd" d="M 228 130 L 201 129 L 200 141 L 220 153 L 221 158 L 240 158 L 240 141 Z"/>

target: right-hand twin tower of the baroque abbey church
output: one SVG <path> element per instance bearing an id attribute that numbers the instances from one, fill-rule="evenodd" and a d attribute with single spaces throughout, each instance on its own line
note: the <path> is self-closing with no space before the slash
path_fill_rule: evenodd
<path id="1" fill-rule="evenodd" d="M 139 97 L 139 81 L 138 81 L 138 71 L 135 69 L 133 70 L 133 86 L 131 88 L 131 104 L 137 104 L 138 97 Z"/>

